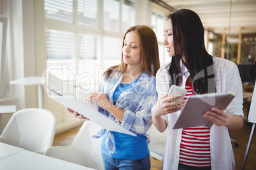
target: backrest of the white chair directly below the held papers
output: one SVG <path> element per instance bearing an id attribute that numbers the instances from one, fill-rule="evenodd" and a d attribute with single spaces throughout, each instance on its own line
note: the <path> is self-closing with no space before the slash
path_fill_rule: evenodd
<path id="1" fill-rule="evenodd" d="M 71 144 L 71 147 L 75 149 L 79 164 L 94 169 L 104 169 L 101 158 L 101 138 L 92 138 L 100 129 L 101 126 L 92 121 L 83 122 L 75 140 Z"/>

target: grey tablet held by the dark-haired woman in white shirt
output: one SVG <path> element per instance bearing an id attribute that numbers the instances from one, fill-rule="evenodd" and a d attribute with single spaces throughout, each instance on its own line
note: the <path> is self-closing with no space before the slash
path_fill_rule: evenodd
<path id="1" fill-rule="evenodd" d="M 173 129 L 206 126 L 211 128 L 213 123 L 203 117 L 212 107 L 224 110 L 234 98 L 234 93 L 208 93 L 189 96 L 175 122 Z"/>

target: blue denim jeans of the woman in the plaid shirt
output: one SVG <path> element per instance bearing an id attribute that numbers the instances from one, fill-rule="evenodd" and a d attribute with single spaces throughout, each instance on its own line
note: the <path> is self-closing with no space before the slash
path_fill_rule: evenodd
<path id="1" fill-rule="evenodd" d="M 103 157 L 103 165 L 105 170 L 120 169 L 120 170 L 150 170 L 150 155 L 143 159 L 129 160 L 129 159 L 115 159 L 101 154 Z"/>

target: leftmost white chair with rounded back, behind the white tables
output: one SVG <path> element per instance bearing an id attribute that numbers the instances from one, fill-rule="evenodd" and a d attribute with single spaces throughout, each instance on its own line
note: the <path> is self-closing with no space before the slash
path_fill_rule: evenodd
<path id="1" fill-rule="evenodd" d="M 52 112 L 42 108 L 25 108 L 12 116 L 0 141 L 43 154 L 52 147 L 56 118 Z"/>

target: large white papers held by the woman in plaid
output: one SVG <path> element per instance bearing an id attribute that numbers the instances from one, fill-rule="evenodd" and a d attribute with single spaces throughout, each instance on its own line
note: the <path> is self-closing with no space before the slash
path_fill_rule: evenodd
<path id="1" fill-rule="evenodd" d="M 72 91 L 73 93 L 68 93 Z M 105 115 L 97 111 L 97 104 L 89 100 L 90 93 L 80 93 L 82 89 L 74 88 L 73 82 L 63 81 L 59 77 L 48 73 L 48 96 L 55 101 L 58 101 L 65 107 L 70 108 L 87 117 L 90 121 L 95 122 L 104 129 L 116 131 L 119 133 L 136 134 L 123 128 Z M 66 92 L 66 93 L 65 93 Z"/>

